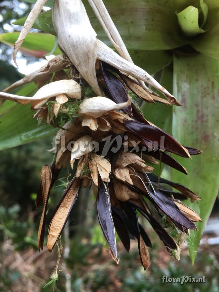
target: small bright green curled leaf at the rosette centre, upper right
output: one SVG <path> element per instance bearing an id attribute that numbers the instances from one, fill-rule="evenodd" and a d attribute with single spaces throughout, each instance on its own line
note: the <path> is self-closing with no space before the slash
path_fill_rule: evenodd
<path id="1" fill-rule="evenodd" d="M 179 26 L 186 36 L 196 36 L 205 30 L 199 27 L 199 10 L 194 6 L 188 6 L 183 11 L 176 13 Z"/>

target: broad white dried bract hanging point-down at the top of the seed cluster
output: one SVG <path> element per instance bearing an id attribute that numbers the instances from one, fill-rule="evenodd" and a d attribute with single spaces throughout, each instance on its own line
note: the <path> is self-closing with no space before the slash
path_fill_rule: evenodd
<path id="1" fill-rule="evenodd" d="M 96 78 L 97 39 L 81 0 L 55 0 L 53 25 L 58 44 L 96 94 L 102 96 Z"/>

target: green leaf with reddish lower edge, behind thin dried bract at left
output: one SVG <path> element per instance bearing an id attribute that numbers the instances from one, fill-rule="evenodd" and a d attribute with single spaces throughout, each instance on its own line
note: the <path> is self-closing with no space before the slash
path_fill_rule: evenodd
<path id="1" fill-rule="evenodd" d="M 14 46 L 18 39 L 19 32 L 2 33 L 0 34 L 0 41 L 9 46 Z M 42 58 L 45 54 L 51 52 L 54 47 L 55 37 L 46 33 L 29 33 L 24 40 L 21 52 L 36 58 Z M 56 48 L 54 55 L 61 54 L 59 48 Z"/>

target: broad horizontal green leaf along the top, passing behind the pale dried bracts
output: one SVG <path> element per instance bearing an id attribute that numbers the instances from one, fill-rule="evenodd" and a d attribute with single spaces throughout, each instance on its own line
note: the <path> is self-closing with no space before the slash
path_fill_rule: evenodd
<path id="1" fill-rule="evenodd" d="M 173 0 L 104 1 L 127 48 L 137 50 L 168 50 L 188 43 L 180 35 L 173 3 Z M 111 45 L 90 5 L 87 1 L 84 4 L 97 37 Z M 18 23 L 23 25 L 24 18 Z M 33 27 L 54 34 L 52 11 L 40 15 Z"/>

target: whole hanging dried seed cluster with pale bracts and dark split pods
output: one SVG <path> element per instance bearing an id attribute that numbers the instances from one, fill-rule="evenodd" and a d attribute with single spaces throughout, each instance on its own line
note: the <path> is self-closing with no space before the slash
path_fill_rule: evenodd
<path id="1" fill-rule="evenodd" d="M 17 51 L 46 2 L 38 0 L 26 19 L 15 43 L 15 62 Z M 89 4 L 120 55 L 96 38 L 81 0 L 55 0 L 52 21 L 63 55 L 11 85 L 0 96 L 21 104 L 31 103 L 31 109 L 36 110 L 34 118 L 39 123 L 46 120 L 53 127 L 61 128 L 52 149 L 57 150 L 56 161 L 51 167 L 43 166 L 40 175 L 36 206 L 43 204 L 43 212 L 38 248 L 43 249 L 50 190 L 61 168 L 70 164 L 72 169 L 75 167 L 75 176 L 64 190 L 50 221 L 48 250 L 51 252 L 57 243 L 80 188 L 91 186 L 99 224 L 113 260 L 119 262 L 116 229 L 127 251 L 130 239 L 137 239 L 141 263 L 147 269 L 151 241 L 138 222 L 137 211 L 149 221 L 167 251 L 177 259 L 185 235 L 197 230 L 193 222 L 201 221 L 196 212 L 181 202 L 186 198 L 200 200 L 200 197 L 179 183 L 156 176 L 152 165 L 160 161 L 187 174 L 166 151 L 183 158 L 191 158 L 201 151 L 182 146 L 144 118 L 135 103 L 136 97 L 166 106 L 180 106 L 180 103 L 132 62 L 102 0 L 89 0 Z M 39 88 L 32 97 L 8 93 L 32 81 Z M 89 86 L 91 94 L 88 94 Z M 170 190 L 169 186 L 177 191 Z"/>

